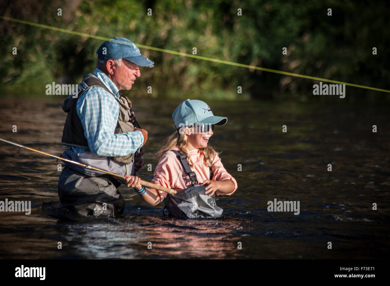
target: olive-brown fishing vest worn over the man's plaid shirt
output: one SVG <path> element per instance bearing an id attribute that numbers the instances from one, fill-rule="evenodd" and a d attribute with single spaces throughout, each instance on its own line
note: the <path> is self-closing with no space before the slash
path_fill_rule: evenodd
<path id="1" fill-rule="evenodd" d="M 115 95 L 96 76 L 93 74 L 87 74 L 83 78 L 83 81 L 78 85 L 78 92 L 76 95 L 66 98 L 64 104 L 62 105 L 62 109 L 67 112 L 64 131 L 62 132 L 62 144 L 89 149 L 88 141 L 84 135 L 84 128 L 80 117 L 77 114 L 76 107 L 80 96 L 88 89 L 96 86 L 104 88 L 108 93 L 112 94 L 119 104 L 119 116 L 114 133 L 117 134 L 134 131 L 132 119 L 134 121 L 135 118 L 129 100 L 121 93 L 119 93 L 119 98 L 115 97 Z M 111 158 L 125 165 L 133 162 L 133 154 Z"/>

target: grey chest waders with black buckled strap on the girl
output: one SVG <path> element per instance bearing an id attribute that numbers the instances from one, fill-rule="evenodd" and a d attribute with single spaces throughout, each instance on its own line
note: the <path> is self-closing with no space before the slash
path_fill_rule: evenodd
<path id="1" fill-rule="evenodd" d="M 176 154 L 184 171 L 190 176 L 192 186 L 177 190 L 176 195 L 167 194 L 164 204 L 170 216 L 175 218 L 218 218 L 221 216 L 223 209 L 216 205 L 215 193 L 212 197 L 205 194 L 206 188 L 199 185 L 195 172 L 188 165 L 186 155 L 176 150 L 171 151 Z M 213 179 L 213 175 L 210 168 L 211 179 Z"/>

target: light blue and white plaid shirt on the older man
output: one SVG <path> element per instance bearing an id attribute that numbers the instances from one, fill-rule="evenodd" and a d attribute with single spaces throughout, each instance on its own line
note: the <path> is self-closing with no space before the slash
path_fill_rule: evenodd
<path id="1" fill-rule="evenodd" d="M 119 98 L 118 88 L 104 72 L 96 68 L 94 76 Z M 140 151 L 144 143 L 140 131 L 114 133 L 119 116 L 119 104 L 104 88 L 88 89 L 78 99 L 76 109 L 90 150 L 70 146 L 73 152 L 90 151 L 98 156 L 119 157 Z"/>

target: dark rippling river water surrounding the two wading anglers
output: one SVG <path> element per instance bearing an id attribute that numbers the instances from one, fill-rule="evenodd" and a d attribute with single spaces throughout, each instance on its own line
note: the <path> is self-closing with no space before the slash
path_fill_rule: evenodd
<path id="1" fill-rule="evenodd" d="M 0 99 L 0 138 L 59 156 L 65 149 L 60 144 L 63 100 Z M 153 172 L 146 166 L 152 164 L 154 171 L 154 152 L 174 131 L 171 115 L 181 101 L 133 102 L 149 132 L 138 175 L 150 181 Z M 126 202 L 122 216 L 75 218 L 58 200 L 56 160 L 0 142 L 0 200 L 32 205 L 30 215 L 0 212 L 0 258 L 387 257 L 388 107 L 339 105 L 337 100 L 207 104 L 215 115 L 228 118 L 226 125 L 216 126 L 209 144 L 222 151 L 222 163 L 238 182 L 232 196 L 217 197 L 221 218 L 165 218 L 163 204 L 147 205 L 125 186 L 119 188 Z M 299 201 L 300 213 L 268 212 L 274 199 Z"/>

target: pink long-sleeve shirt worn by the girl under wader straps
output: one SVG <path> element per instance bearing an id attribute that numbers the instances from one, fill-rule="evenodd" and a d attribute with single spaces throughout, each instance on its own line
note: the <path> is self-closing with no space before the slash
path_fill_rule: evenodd
<path id="1" fill-rule="evenodd" d="M 178 146 L 175 146 L 171 150 L 181 151 Z M 213 181 L 230 180 L 234 183 L 234 190 L 228 194 L 216 191 L 216 195 L 231 195 L 236 191 L 236 179 L 234 179 L 234 177 L 232 177 L 232 175 L 230 175 L 223 167 L 218 154 L 216 154 L 214 157 L 213 165 L 211 166 L 211 170 L 213 170 L 213 178 L 210 178 L 210 169 L 204 164 L 203 154 L 200 153 L 197 149 L 192 150 L 189 153 L 191 156 L 190 165 L 194 165 L 194 167 L 190 168 L 193 172 L 195 172 L 199 183 L 211 179 Z M 190 188 L 191 186 L 190 177 L 187 175 L 186 171 L 181 165 L 181 162 L 176 157 L 176 154 L 172 151 L 165 152 L 161 157 L 156 170 L 154 170 L 154 178 L 152 183 L 172 189 L 186 189 Z M 167 196 L 167 193 L 163 191 L 157 192 L 160 195 L 161 201 Z"/>

